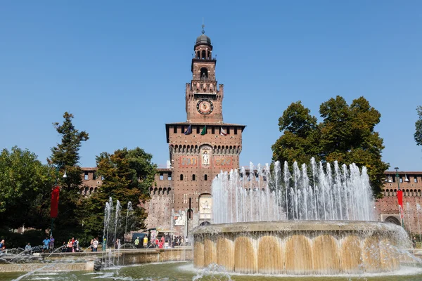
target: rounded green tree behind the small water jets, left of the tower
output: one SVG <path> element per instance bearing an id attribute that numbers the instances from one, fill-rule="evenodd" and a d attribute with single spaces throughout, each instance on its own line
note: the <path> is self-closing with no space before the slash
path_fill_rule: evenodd
<path id="1" fill-rule="evenodd" d="M 155 185 L 156 165 L 151 162 L 152 155 L 141 148 L 115 150 L 113 154 L 102 152 L 96 157 L 98 175 L 103 183 L 98 192 L 84 200 L 84 208 L 79 215 L 84 218 L 84 230 L 89 235 L 100 236 L 103 231 L 104 207 L 109 197 L 119 200 L 123 213 L 128 202 L 132 202 L 134 220 L 129 230 L 144 228 L 146 212 L 141 203 L 150 199 L 149 188 Z M 122 230 L 120 230 L 120 236 Z"/>

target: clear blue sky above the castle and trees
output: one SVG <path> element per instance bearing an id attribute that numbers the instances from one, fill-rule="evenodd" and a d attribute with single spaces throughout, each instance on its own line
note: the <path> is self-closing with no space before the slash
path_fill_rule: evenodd
<path id="1" fill-rule="evenodd" d="M 165 164 L 165 123 L 186 121 L 184 87 L 205 31 L 224 84 L 224 122 L 247 125 L 241 164 L 271 161 L 290 103 L 318 115 L 340 95 L 381 112 L 383 160 L 422 171 L 421 1 L 1 1 L 0 148 L 45 162 L 52 122 L 75 115 L 100 152 L 139 146 Z"/>

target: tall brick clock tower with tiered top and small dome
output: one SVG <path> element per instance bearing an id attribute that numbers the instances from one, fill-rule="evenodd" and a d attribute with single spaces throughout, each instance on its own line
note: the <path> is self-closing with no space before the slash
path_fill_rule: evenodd
<path id="1" fill-rule="evenodd" d="M 203 26 L 204 27 L 204 26 Z M 239 166 L 245 126 L 223 122 L 224 87 L 217 84 L 211 39 L 196 39 L 191 63 L 192 80 L 186 84 L 186 122 L 166 124 L 172 173 L 173 226 L 185 233 L 212 221 L 212 179 L 220 171 Z"/>

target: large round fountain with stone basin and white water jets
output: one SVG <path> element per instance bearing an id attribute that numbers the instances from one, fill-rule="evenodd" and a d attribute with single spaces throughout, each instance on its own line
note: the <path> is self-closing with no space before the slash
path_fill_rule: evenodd
<path id="1" fill-rule="evenodd" d="M 193 231 L 194 266 L 288 275 L 382 273 L 399 269 L 402 227 L 374 221 L 366 168 L 285 162 L 250 164 L 212 182 L 213 224 Z M 406 244 L 407 243 L 407 244 Z"/>

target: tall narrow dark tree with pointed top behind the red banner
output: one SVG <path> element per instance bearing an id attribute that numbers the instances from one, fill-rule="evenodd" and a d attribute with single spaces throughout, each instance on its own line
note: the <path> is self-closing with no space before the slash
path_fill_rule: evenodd
<path id="1" fill-rule="evenodd" d="M 86 131 L 79 132 L 72 124 L 73 115 L 65 112 L 63 124 L 53 123 L 57 132 L 62 136 L 61 143 L 51 148 L 49 164 L 58 167 L 60 197 L 58 201 L 58 217 L 56 218 L 55 233 L 75 235 L 81 230 L 82 223 L 77 218 L 77 208 L 81 206 L 79 188 L 82 185 L 82 170 L 79 167 L 79 149 L 82 142 L 89 139 Z M 66 172 L 67 178 L 63 178 Z M 56 235 L 56 234 L 55 234 Z"/>

